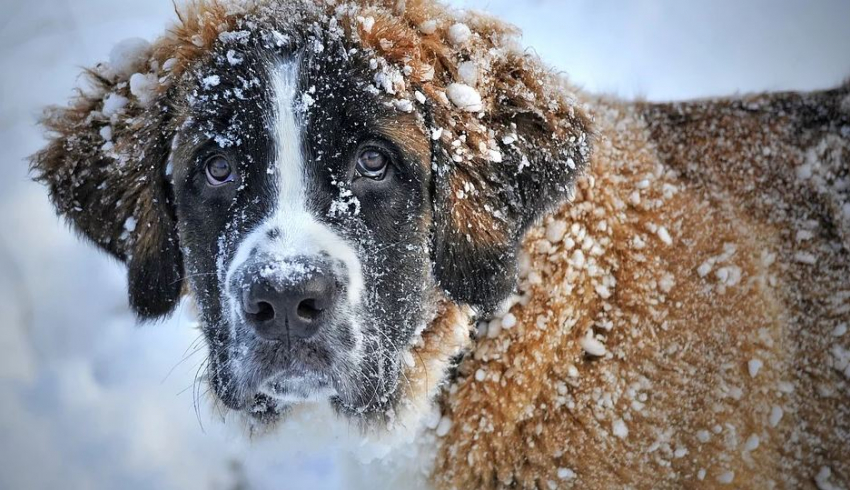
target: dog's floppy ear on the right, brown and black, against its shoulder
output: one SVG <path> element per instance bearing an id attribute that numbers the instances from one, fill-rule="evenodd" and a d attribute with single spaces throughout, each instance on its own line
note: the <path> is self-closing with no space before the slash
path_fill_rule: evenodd
<path id="1" fill-rule="evenodd" d="M 433 114 L 442 131 L 432 148 L 435 275 L 454 301 L 482 312 L 510 295 L 523 235 L 563 204 L 589 159 L 590 119 L 538 63 L 494 65 L 474 112 L 457 110 L 463 97 L 449 85 L 452 104 Z"/>

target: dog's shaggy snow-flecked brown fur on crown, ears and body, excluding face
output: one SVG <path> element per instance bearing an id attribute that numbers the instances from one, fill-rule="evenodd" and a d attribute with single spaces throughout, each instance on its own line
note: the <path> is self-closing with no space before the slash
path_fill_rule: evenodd
<path id="1" fill-rule="evenodd" d="M 138 67 L 160 80 L 154 101 L 95 68 L 92 90 L 48 113 L 51 142 L 33 157 L 58 210 L 127 262 L 140 317 L 168 313 L 185 287 L 163 171 L 182 123 L 170 92 L 246 19 L 316 21 L 404 73 L 390 93 L 424 94 L 439 128 L 445 299 L 405 373 L 412 405 L 438 393 L 451 422 L 434 485 L 850 485 L 850 85 L 597 98 L 515 48 L 512 27 L 431 0 L 197 2 L 179 16 Z M 455 44 L 461 20 L 471 38 Z M 481 111 L 446 96 L 468 60 Z M 107 117 L 110 94 L 128 105 Z M 472 308 L 495 313 L 474 339 Z"/>

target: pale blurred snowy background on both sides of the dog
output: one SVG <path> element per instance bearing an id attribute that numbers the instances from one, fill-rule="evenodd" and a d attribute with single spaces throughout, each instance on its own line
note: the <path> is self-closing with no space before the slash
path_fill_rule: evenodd
<path id="1" fill-rule="evenodd" d="M 650 99 L 825 88 L 850 76 L 846 0 L 458 0 L 523 28 L 589 90 Z M 249 444 L 202 405 L 181 309 L 136 327 L 124 272 L 29 182 L 40 107 L 79 67 L 153 38 L 171 0 L 0 0 L 0 488 L 344 488 L 301 440 Z"/>

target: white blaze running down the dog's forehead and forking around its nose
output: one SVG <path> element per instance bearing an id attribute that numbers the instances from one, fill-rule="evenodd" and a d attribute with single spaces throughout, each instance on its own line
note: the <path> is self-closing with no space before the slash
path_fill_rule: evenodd
<path id="1" fill-rule="evenodd" d="M 245 236 L 227 271 L 227 284 L 240 266 L 251 259 L 256 250 L 273 261 L 286 263 L 295 257 L 311 258 L 326 254 L 335 262 L 345 264 L 348 283 L 348 302 L 360 301 L 363 275 L 360 260 L 354 248 L 334 230 L 316 219 L 308 209 L 311 192 L 307 178 L 304 152 L 304 113 L 300 106 L 299 62 L 288 60 L 270 69 L 270 110 L 272 137 L 274 138 L 274 164 L 272 182 L 277 191 L 271 215 L 255 230 Z M 278 233 L 270 236 L 269 232 Z M 274 263 L 268 264 L 272 269 Z M 286 267 L 278 270 L 285 271 Z M 343 273 L 337 271 L 337 273 Z M 230 292 L 232 301 L 239 294 Z M 234 305 L 234 308 L 236 305 Z"/>

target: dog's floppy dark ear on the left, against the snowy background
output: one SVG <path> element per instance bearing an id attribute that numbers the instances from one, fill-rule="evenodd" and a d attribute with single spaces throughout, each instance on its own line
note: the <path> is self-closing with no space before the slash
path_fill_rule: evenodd
<path id="1" fill-rule="evenodd" d="M 73 227 L 127 265 L 130 306 L 140 319 L 171 313 L 183 265 L 167 165 L 167 94 L 131 93 L 108 68 L 88 72 L 93 89 L 42 120 L 48 146 L 31 157 L 38 181 Z M 137 82 L 137 83 L 132 83 Z"/>

